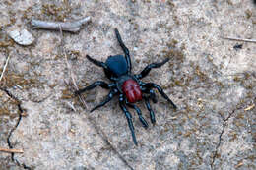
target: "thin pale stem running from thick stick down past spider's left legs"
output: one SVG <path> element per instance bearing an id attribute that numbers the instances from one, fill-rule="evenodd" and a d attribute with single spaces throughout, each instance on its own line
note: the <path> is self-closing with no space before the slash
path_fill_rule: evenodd
<path id="1" fill-rule="evenodd" d="M 62 28 L 61 28 L 61 26 L 59 25 L 59 30 L 60 30 L 60 35 L 61 35 L 61 49 L 62 49 L 62 53 L 64 54 L 64 56 L 65 56 L 65 60 L 66 60 L 66 64 L 67 64 L 67 67 L 68 67 L 68 71 L 69 71 L 69 75 L 70 75 L 70 77 L 71 77 L 71 80 L 72 80 L 72 83 L 73 83 L 73 85 L 74 85 L 74 87 L 75 87 L 75 90 L 79 90 L 79 88 L 78 88 L 78 85 L 77 85 L 77 83 L 76 83 L 76 78 L 75 78 L 75 75 L 74 75 L 74 73 L 72 72 L 72 67 L 70 66 L 70 64 L 69 64 L 69 62 L 68 62 L 68 56 L 67 56 L 67 53 L 66 53 L 66 51 L 65 51 L 65 49 L 64 49 L 64 44 L 63 44 L 63 33 L 62 33 Z M 81 95 L 79 95 L 78 96 L 79 97 L 79 100 L 82 102 L 82 104 L 84 105 L 84 107 L 87 109 L 87 104 L 86 104 L 86 101 L 84 100 L 84 98 L 81 96 Z"/>

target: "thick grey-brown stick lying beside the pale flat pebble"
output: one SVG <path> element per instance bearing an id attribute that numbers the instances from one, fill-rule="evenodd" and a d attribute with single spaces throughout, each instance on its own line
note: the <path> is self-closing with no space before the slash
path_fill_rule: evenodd
<path id="1" fill-rule="evenodd" d="M 44 28 L 51 30 L 59 30 L 61 28 L 64 31 L 77 32 L 80 30 L 81 26 L 90 22 L 91 18 L 86 17 L 81 20 L 77 20 L 74 22 L 47 22 L 41 20 L 32 19 L 32 27 L 34 28 Z"/>

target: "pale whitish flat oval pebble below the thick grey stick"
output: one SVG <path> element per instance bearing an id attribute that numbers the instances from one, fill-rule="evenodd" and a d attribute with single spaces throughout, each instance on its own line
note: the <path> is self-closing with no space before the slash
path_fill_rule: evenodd
<path id="1" fill-rule="evenodd" d="M 15 42 L 17 42 L 20 45 L 31 45 L 34 41 L 32 34 L 26 29 L 16 29 L 10 31 L 8 34 Z"/>

